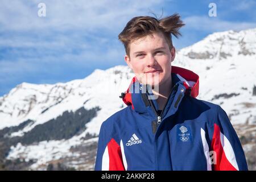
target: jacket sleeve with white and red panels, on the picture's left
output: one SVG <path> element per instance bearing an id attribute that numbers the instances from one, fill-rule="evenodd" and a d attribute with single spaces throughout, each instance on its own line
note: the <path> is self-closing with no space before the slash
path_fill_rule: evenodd
<path id="1" fill-rule="evenodd" d="M 98 137 L 95 171 L 124 171 L 121 147 L 117 139 L 110 134 L 111 130 L 102 123 Z"/>

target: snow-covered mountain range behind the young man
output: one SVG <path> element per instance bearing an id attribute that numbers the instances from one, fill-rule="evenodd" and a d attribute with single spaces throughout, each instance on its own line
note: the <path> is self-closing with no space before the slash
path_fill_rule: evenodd
<path id="1" fill-rule="evenodd" d="M 251 169 L 256 169 L 255 60 L 256 28 L 211 34 L 178 51 L 173 63 L 200 76 L 197 98 L 221 105 L 229 115 Z M 133 76 L 120 65 L 66 83 L 23 82 L 0 97 L 5 168 L 93 169 L 101 123 L 126 107 L 119 95 Z"/>

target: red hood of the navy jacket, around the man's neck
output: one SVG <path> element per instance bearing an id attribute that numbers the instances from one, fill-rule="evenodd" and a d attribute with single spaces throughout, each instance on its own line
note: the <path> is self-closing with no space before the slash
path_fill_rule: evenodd
<path id="1" fill-rule="evenodd" d="M 183 85 L 185 86 L 186 94 L 189 94 L 191 97 L 197 97 L 199 94 L 199 76 L 196 75 L 196 73 L 180 67 L 174 67 L 172 66 L 172 73 L 178 74 L 178 77 L 181 81 L 183 81 Z M 133 102 L 131 100 L 131 93 L 129 93 L 130 86 L 137 81 L 137 78 L 134 76 L 131 80 L 131 83 L 126 90 L 125 93 L 122 93 L 122 100 L 125 102 L 127 106 L 132 105 L 133 109 Z M 190 91 L 191 90 L 191 91 Z M 190 91 L 190 92 L 189 92 Z"/>

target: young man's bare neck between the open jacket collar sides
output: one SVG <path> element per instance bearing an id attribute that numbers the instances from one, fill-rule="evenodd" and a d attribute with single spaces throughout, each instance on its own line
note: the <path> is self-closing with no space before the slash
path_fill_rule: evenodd
<path id="1" fill-rule="evenodd" d="M 163 84 L 159 85 L 159 90 L 156 92 L 154 89 L 152 92 L 155 96 L 158 96 L 156 102 L 158 102 L 158 109 L 163 110 L 164 105 L 166 104 L 168 97 L 170 96 L 170 92 L 172 89 L 172 78 L 168 79 Z"/>

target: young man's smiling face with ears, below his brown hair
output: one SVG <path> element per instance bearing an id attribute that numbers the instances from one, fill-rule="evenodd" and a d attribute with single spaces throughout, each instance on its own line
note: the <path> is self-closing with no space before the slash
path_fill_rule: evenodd
<path id="1" fill-rule="evenodd" d="M 125 61 L 142 84 L 160 86 L 170 79 L 174 58 L 175 48 L 170 51 L 163 34 L 154 33 L 131 42 Z"/>

